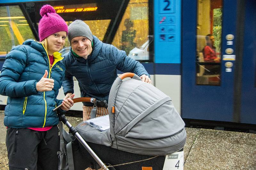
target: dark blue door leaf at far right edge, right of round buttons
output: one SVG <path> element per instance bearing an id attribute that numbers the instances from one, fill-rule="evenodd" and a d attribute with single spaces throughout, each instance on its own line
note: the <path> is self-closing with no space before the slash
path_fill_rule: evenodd
<path id="1" fill-rule="evenodd" d="M 256 124 L 256 3 L 247 1 L 244 20 L 242 59 L 241 115 L 242 123 Z"/>

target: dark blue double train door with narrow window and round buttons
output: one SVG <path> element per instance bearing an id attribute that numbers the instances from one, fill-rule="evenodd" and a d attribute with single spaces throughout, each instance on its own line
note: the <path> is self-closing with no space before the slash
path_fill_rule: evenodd
<path id="1" fill-rule="evenodd" d="M 182 4 L 182 118 L 256 124 L 255 9 L 253 0 Z"/>

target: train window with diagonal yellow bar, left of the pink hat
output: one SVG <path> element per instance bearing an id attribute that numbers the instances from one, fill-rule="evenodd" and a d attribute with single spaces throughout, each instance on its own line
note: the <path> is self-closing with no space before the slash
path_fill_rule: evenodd
<path id="1" fill-rule="evenodd" d="M 19 6 L 0 6 L 0 55 L 27 39 L 35 39 Z"/>

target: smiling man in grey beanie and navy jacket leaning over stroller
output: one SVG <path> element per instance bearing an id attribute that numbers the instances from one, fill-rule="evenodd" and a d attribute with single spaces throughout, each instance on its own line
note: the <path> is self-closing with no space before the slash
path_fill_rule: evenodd
<path id="1" fill-rule="evenodd" d="M 140 62 L 126 56 L 125 51 L 115 46 L 102 43 L 87 24 L 75 20 L 68 26 L 68 41 L 71 48 L 64 54 L 66 66 L 62 86 L 65 98 L 74 93 L 73 76 L 76 77 L 81 97 L 93 97 L 108 101 L 108 95 L 117 77 L 117 69 L 132 72 L 142 81 L 151 83 L 150 76 Z M 83 103 L 83 120 L 108 114 L 104 107 L 97 107 L 96 115 L 92 112 L 92 103 Z M 92 112 L 92 117 L 91 117 Z"/>

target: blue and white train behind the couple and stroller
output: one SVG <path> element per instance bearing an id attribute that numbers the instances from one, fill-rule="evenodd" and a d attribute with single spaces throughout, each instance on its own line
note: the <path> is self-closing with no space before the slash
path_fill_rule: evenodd
<path id="1" fill-rule="evenodd" d="M 256 124 L 255 0 L 1 0 L 1 67 L 13 46 L 39 39 L 44 4 L 67 24 L 85 21 L 101 41 L 139 60 L 188 123 Z M 61 52 L 69 46 L 67 41 Z M 207 60 L 206 46 L 216 60 Z M 2 106 L 6 99 L 0 96 Z"/>

